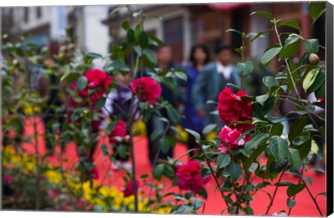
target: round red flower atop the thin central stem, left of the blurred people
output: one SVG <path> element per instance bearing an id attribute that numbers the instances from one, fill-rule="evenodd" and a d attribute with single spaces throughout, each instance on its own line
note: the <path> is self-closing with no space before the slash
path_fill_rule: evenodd
<path id="1" fill-rule="evenodd" d="M 161 94 L 160 85 L 150 77 L 137 78 L 130 83 L 131 93 L 136 94 L 141 101 L 157 103 Z"/>

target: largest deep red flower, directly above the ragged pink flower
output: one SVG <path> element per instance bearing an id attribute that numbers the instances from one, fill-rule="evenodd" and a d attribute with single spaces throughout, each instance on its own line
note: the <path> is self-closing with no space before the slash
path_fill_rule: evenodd
<path id="1" fill-rule="evenodd" d="M 218 107 L 219 118 L 226 125 L 232 121 L 252 121 L 250 114 L 253 110 L 252 101 L 250 99 L 241 99 L 239 97 L 245 96 L 245 91 L 239 91 L 237 94 L 232 93 L 229 87 L 219 94 Z M 234 124 L 231 128 L 237 128 L 238 131 L 244 132 L 250 128 L 254 128 L 252 124 Z"/>

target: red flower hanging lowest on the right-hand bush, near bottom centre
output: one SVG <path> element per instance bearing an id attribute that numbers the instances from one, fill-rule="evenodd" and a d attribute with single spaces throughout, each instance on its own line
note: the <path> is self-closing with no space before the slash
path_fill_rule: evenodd
<path id="1" fill-rule="evenodd" d="M 200 191 L 209 182 L 210 177 L 200 176 L 200 162 L 191 160 L 186 165 L 177 165 L 175 176 L 179 178 L 178 186 L 181 190 Z"/>

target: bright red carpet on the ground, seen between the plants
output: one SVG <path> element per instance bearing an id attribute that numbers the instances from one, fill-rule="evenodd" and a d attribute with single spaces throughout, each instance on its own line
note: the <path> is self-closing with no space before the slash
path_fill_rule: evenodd
<path id="1" fill-rule="evenodd" d="M 26 132 L 25 135 L 31 135 L 33 133 L 33 128 L 31 126 L 31 120 L 26 121 Z M 43 130 L 43 124 L 38 123 L 38 132 L 42 133 Z M 146 137 L 136 137 L 134 139 L 135 141 L 135 153 L 136 153 L 136 174 L 139 176 L 143 174 L 152 174 L 152 167 L 150 166 L 150 162 L 148 160 L 148 140 Z M 102 142 L 106 145 L 108 145 L 108 140 L 101 139 L 100 144 Z M 34 153 L 35 149 L 32 143 L 26 143 L 24 144 L 24 148 L 29 151 L 29 153 Z M 45 145 L 44 140 L 42 136 L 38 137 L 38 152 L 45 153 Z M 56 150 L 56 153 L 59 151 Z M 186 146 L 184 144 L 178 143 L 175 149 L 174 158 L 178 158 L 182 156 L 182 154 L 186 152 Z M 71 143 L 67 145 L 65 156 L 64 158 L 68 159 L 68 162 L 64 163 L 65 167 L 67 169 L 71 169 L 73 166 L 76 165 L 77 162 L 77 152 L 75 151 L 75 144 Z M 186 162 L 188 160 L 188 157 L 184 157 L 181 159 L 183 162 Z M 49 162 L 53 164 L 58 164 L 58 160 L 56 160 L 55 157 L 49 158 Z M 102 151 L 100 149 L 97 149 L 97 153 L 95 153 L 95 163 L 100 169 L 100 182 L 104 183 L 105 185 L 116 185 L 117 187 L 124 187 L 124 182 L 122 180 L 122 173 L 120 171 L 114 171 L 111 168 L 111 162 L 108 158 L 103 156 Z M 325 174 L 315 174 L 315 171 L 308 170 L 304 173 L 304 176 L 309 176 L 312 178 L 312 185 L 308 185 L 310 188 L 310 191 L 315 196 L 316 194 L 320 192 L 326 192 L 326 176 Z M 147 178 L 148 181 L 150 181 L 150 177 Z M 292 183 L 297 183 L 298 178 L 293 176 L 292 174 L 285 174 L 283 176 L 282 181 L 290 181 Z M 275 183 L 274 181 L 273 183 Z M 168 181 L 164 182 L 161 181 L 161 183 L 168 183 Z M 255 179 L 253 183 L 261 183 L 260 179 Z M 212 179 L 207 184 L 207 192 L 208 192 L 208 199 L 205 203 L 205 215 L 220 215 L 221 210 L 225 208 L 225 203 L 223 199 L 221 199 L 221 194 L 219 192 L 215 192 L 215 183 Z M 148 187 L 141 187 L 145 193 L 148 193 L 149 188 Z M 264 190 L 266 192 L 269 192 L 271 195 L 273 195 L 275 187 L 266 187 Z M 273 202 L 273 206 L 271 207 L 271 210 L 269 211 L 269 215 L 271 215 L 273 212 L 280 212 L 281 210 L 285 210 L 287 213 L 287 194 L 286 194 L 287 187 L 278 187 L 278 192 L 276 194 L 276 198 Z M 173 189 L 168 189 L 167 192 L 180 192 L 177 187 L 173 187 Z M 251 203 L 251 206 L 255 212 L 255 215 L 264 215 L 267 206 L 269 205 L 270 199 L 269 196 L 264 192 L 257 192 L 255 196 L 253 196 L 254 201 Z M 321 208 L 321 211 L 323 212 L 323 215 L 326 215 L 326 197 L 325 196 L 318 196 L 317 197 L 317 203 L 319 204 L 319 207 Z M 202 211 L 202 208 L 200 209 Z M 227 214 L 227 212 L 224 212 L 224 214 Z M 310 195 L 308 194 L 307 190 L 304 189 L 301 193 L 297 194 L 296 196 L 296 206 L 292 208 L 291 212 L 292 216 L 305 216 L 305 217 L 320 217 L 319 212 L 317 211 L 317 208 L 315 204 L 313 203 Z"/>

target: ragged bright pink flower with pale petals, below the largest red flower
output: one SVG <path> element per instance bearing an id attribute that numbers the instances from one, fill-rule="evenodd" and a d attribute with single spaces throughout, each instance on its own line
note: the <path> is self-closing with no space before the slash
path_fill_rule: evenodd
<path id="1" fill-rule="evenodd" d="M 237 129 L 232 129 L 228 126 L 224 126 L 223 128 L 221 128 L 221 133 L 219 133 L 218 138 L 226 142 L 228 146 L 224 142 L 221 142 L 221 146 L 218 148 L 218 151 L 223 153 L 229 153 L 229 147 L 230 149 L 235 149 L 237 148 L 237 146 L 243 146 L 245 142 L 250 140 L 249 137 L 243 137 L 238 142 L 240 135 L 241 132 L 237 131 Z"/>

